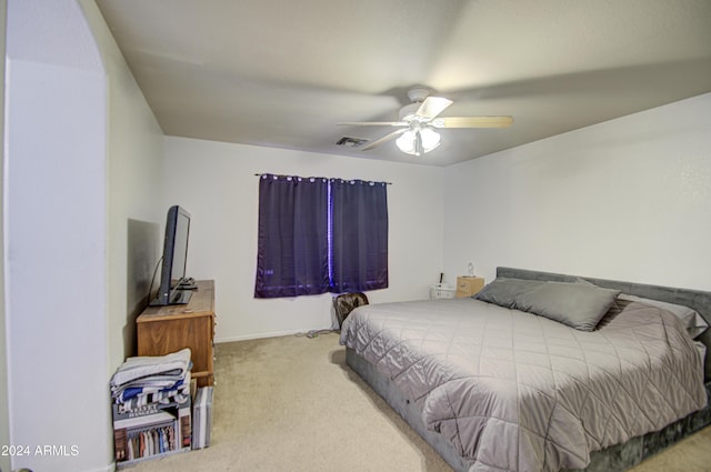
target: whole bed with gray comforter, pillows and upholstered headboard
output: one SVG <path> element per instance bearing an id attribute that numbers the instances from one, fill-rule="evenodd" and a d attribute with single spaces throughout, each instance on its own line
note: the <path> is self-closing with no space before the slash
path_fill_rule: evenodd
<path id="1" fill-rule="evenodd" d="M 455 471 L 622 471 L 711 423 L 710 292 L 512 268 L 493 282 L 361 307 L 341 330 L 351 369 Z"/>

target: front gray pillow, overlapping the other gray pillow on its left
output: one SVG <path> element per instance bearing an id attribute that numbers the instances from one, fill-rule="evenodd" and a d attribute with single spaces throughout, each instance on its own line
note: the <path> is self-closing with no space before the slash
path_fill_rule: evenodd
<path id="1" fill-rule="evenodd" d="M 593 331 L 619 290 L 582 283 L 545 282 L 517 298 L 517 309 L 540 314 L 581 331 Z"/>

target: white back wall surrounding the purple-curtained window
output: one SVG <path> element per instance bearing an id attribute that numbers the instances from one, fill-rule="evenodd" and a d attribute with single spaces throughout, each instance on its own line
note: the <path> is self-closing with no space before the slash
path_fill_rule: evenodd
<path id="1" fill-rule="evenodd" d="M 331 327 L 331 295 L 256 300 L 258 178 L 269 172 L 392 182 L 390 288 L 372 302 L 424 299 L 442 271 L 440 168 L 166 138 L 166 208 L 192 214 L 188 272 L 216 280 L 218 341 Z"/>

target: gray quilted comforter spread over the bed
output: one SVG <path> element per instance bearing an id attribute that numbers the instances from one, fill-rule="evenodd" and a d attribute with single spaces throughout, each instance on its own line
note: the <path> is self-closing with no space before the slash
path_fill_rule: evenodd
<path id="1" fill-rule="evenodd" d="M 592 332 L 472 299 L 373 304 L 350 314 L 341 344 L 415 401 L 472 472 L 581 469 L 707 402 L 683 327 L 634 302 Z"/>

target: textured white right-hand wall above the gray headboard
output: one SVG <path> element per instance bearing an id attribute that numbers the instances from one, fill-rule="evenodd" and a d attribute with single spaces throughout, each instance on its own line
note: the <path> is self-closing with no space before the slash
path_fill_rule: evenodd
<path id="1" fill-rule="evenodd" d="M 711 289 L 711 94 L 452 165 L 444 183 L 449 272 Z"/>

